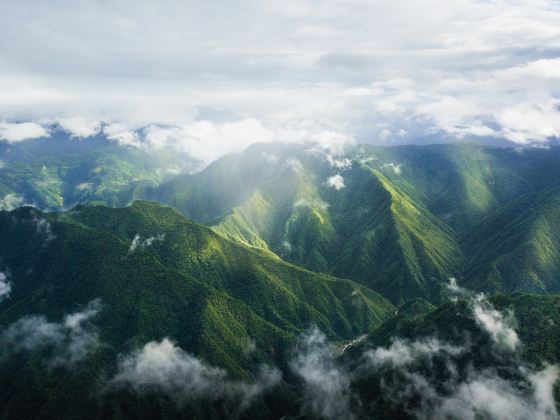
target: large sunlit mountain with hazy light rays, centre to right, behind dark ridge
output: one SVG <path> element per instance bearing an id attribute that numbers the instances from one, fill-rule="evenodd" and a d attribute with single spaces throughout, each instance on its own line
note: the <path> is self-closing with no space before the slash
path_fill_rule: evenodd
<path id="1" fill-rule="evenodd" d="M 486 290 L 471 279 L 481 264 L 471 250 L 491 232 L 472 232 L 518 197 L 560 185 L 559 159 L 557 147 L 254 145 L 139 195 L 394 303 L 440 302 L 449 277 Z"/>

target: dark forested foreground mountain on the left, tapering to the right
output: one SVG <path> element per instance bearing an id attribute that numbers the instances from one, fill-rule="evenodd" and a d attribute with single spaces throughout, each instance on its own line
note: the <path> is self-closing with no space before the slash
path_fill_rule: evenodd
<path id="1" fill-rule="evenodd" d="M 146 416 L 142 406 L 152 400 L 128 391 L 105 397 L 105 388 L 124 355 L 148 343 L 177 358 L 188 352 L 225 369 L 231 381 L 250 383 L 263 363 L 286 369 L 297 335 L 311 325 L 340 341 L 394 313 L 371 290 L 224 239 L 156 203 L 0 212 L 0 256 L 11 289 L 0 301 L 6 418 L 85 410 Z M 219 371 L 202 372 L 230 384 Z M 253 389 L 231 383 L 228 392 Z M 153 410 L 176 412 L 172 401 L 154 401 Z M 212 407 L 188 412 L 227 414 Z"/>

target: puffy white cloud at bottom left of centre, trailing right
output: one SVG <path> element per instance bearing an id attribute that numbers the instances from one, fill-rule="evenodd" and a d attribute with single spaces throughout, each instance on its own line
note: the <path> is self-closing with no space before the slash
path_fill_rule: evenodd
<path id="1" fill-rule="evenodd" d="M 230 380 L 224 370 L 206 365 L 165 338 L 124 356 L 111 387 L 143 395 L 164 393 L 179 405 L 199 399 L 234 400 L 244 409 L 280 380 L 280 372 L 269 367 L 263 367 L 253 383 Z"/>

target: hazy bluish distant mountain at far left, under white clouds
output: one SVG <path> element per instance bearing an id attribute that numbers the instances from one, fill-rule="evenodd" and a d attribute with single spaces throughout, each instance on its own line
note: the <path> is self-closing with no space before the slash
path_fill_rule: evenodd
<path id="1" fill-rule="evenodd" d="M 126 205 L 135 188 L 158 185 L 196 165 L 169 151 L 121 146 L 103 134 L 78 139 L 53 130 L 46 138 L 0 142 L 0 209 Z"/>

